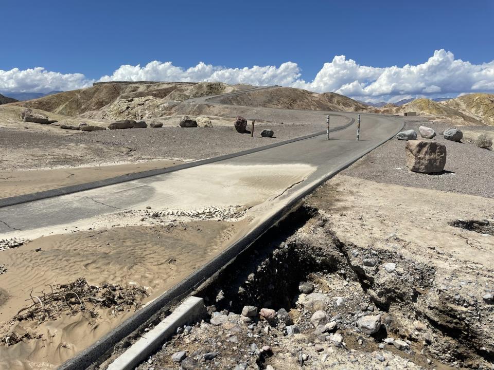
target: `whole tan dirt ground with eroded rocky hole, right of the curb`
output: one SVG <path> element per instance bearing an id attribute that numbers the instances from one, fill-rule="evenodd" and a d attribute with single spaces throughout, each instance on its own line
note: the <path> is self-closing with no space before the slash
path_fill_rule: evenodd
<path id="1" fill-rule="evenodd" d="M 494 368 L 493 224 L 491 199 L 337 175 L 137 368 Z"/>

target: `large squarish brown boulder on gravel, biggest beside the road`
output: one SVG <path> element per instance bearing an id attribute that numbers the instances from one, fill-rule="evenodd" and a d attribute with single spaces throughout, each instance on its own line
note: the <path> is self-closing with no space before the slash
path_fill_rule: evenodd
<path id="1" fill-rule="evenodd" d="M 442 172 L 446 164 L 446 146 L 435 141 L 409 140 L 405 146 L 407 167 L 421 173 Z"/>

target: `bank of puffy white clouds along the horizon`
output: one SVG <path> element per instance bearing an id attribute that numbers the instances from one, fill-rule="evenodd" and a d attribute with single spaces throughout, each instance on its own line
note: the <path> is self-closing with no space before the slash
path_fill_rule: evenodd
<path id="1" fill-rule="evenodd" d="M 334 91 L 365 101 L 396 101 L 411 97 L 455 97 L 494 91 L 494 61 L 471 64 L 455 59 L 450 51 L 436 50 L 426 62 L 403 67 L 372 67 L 358 64 L 345 55 L 325 63 L 311 81 L 302 79 L 301 68 L 286 62 L 276 66 L 227 68 L 200 62 L 182 68 L 172 62 L 153 61 L 145 66 L 122 65 L 111 76 L 98 81 L 221 81 L 228 84 L 280 85 L 318 93 Z M 44 68 L 0 70 L 0 91 L 73 90 L 90 86 L 94 80 L 81 73 L 62 74 Z"/>

